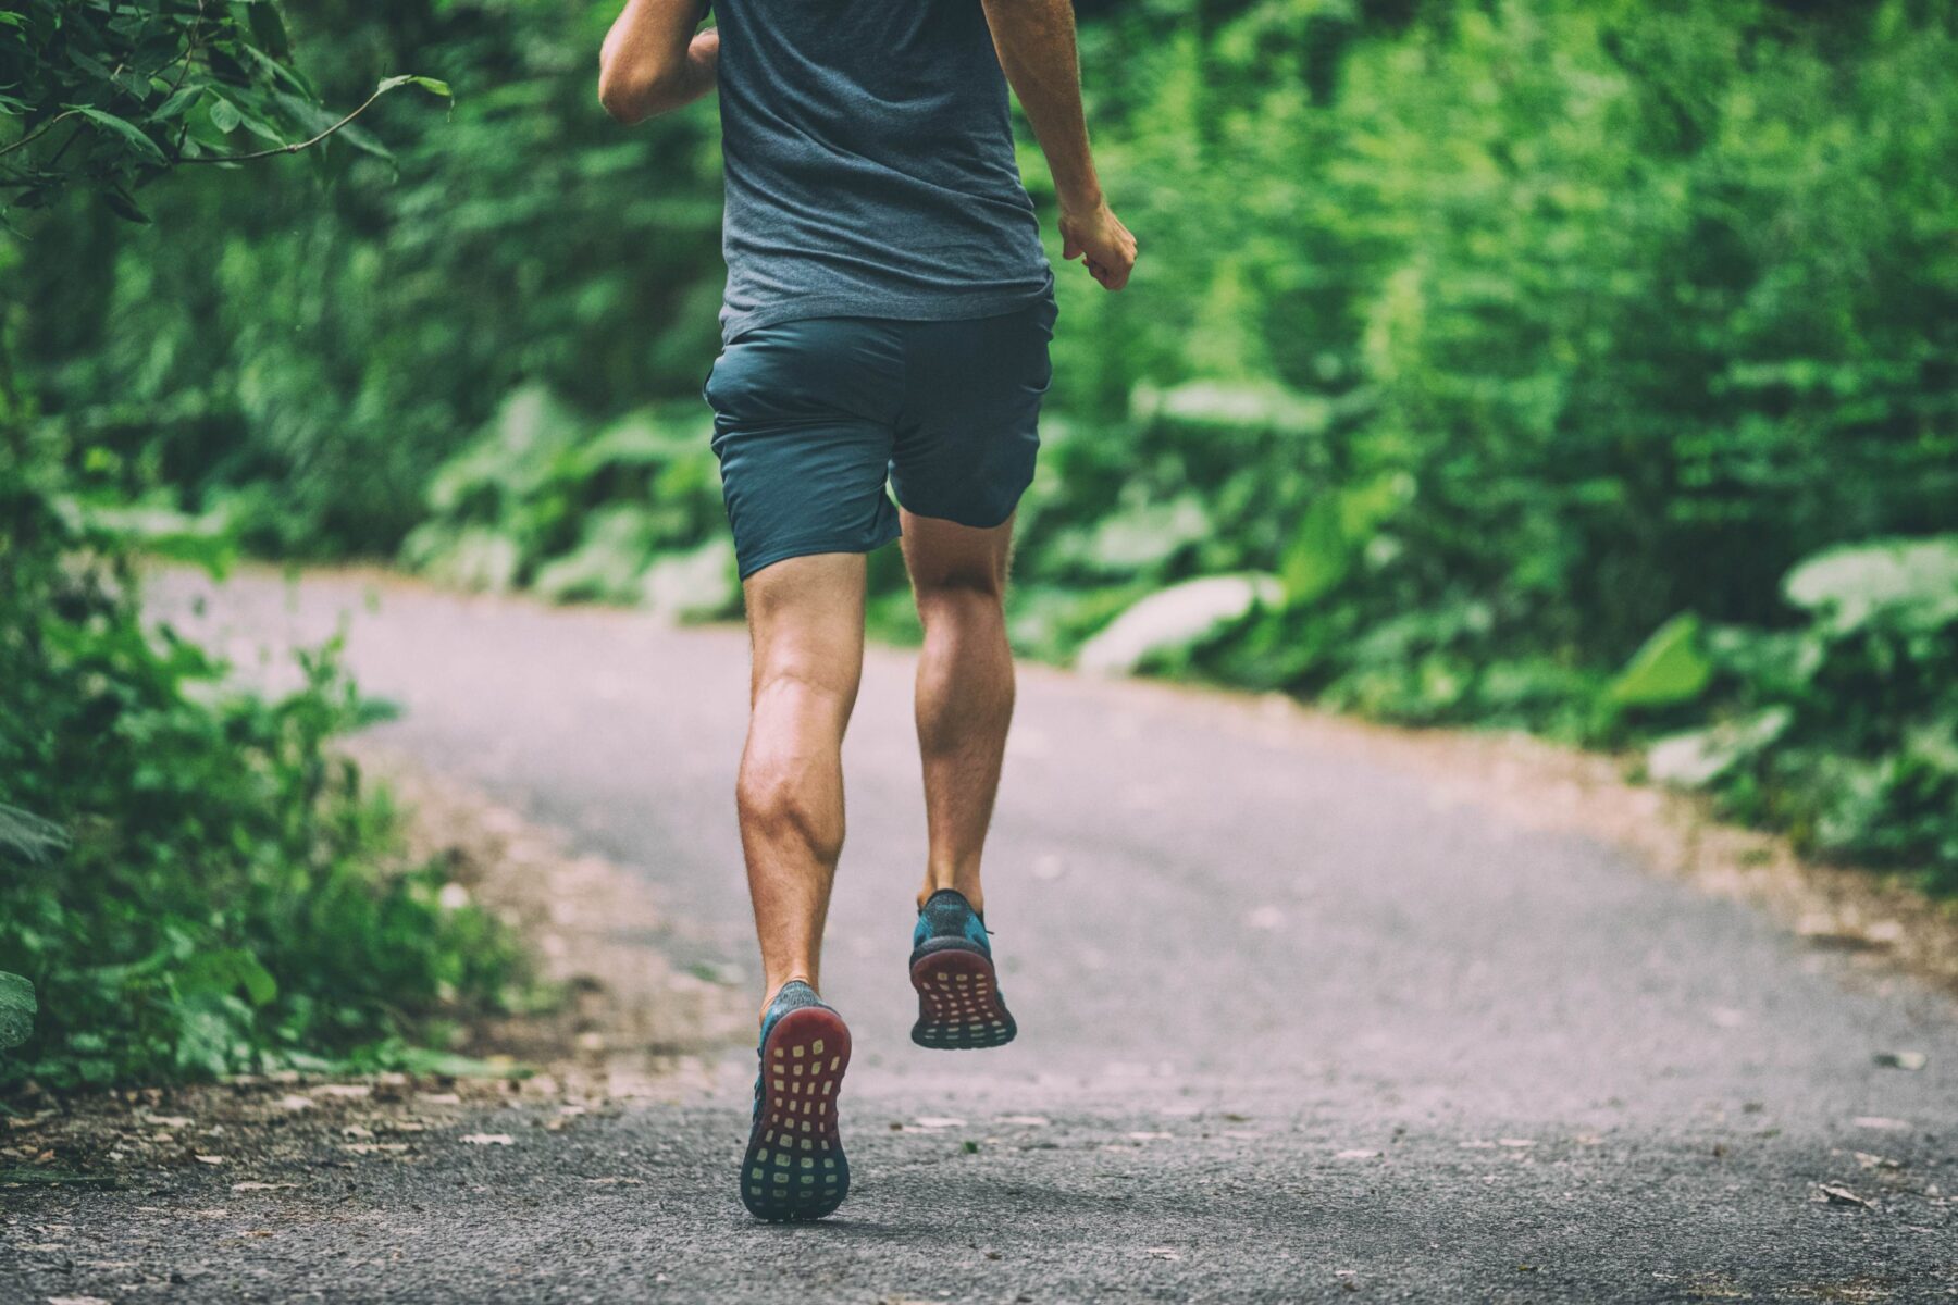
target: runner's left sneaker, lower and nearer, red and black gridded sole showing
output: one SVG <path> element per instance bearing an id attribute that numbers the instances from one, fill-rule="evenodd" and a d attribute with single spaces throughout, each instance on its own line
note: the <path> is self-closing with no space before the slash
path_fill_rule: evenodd
<path id="1" fill-rule="evenodd" d="M 754 1127 L 740 1162 L 740 1199 L 756 1219 L 820 1219 L 850 1195 L 836 1098 L 850 1066 L 850 1029 L 815 988 L 781 986 L 762 1019 Z"/>

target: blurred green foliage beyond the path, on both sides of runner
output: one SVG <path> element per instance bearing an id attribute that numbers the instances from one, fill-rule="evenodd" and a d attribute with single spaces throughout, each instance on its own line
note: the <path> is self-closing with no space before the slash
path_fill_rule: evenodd
<path id="1" fill-rule="evenodd" d="M 157 229 L 63 213 L 35 260 L 0 250 L 43 425 L 258 550 L 730 610 L 713 112 L 605 123 L 597 8 L 288 14 L 327 96 L 407 61 L 454 113 L 390 112 L 399 180 L 331 151 L 329 205 L 174 178 Z M 1061 268 L 1024 650 L 1171 593 L 1128 624 L 1167 622 L 1140 665 L 1406 722 L 1711 730 L 1664 755 L 1733 810 L 1958 865 L 1950 622 L 1891 597 L 1948 581 L 1923 540 L 1958 528 L 1958 10 L 1083 14 L 1145 252 L 1124 295 Z M 1831 552 L 1882 538 L 1921 544 Z M 912 634 L 895 560 L 871 583 Z"/>

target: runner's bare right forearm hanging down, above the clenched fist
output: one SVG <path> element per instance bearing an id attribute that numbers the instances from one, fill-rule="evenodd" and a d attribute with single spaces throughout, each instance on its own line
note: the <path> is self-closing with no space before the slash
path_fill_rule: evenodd
<path id="1" fill-rule="evenodd" d="M 1020 96 L 1063 209 L 1102 202 L 1081 110 L 1073 0 L 983 0 L 999 67 Z"/>

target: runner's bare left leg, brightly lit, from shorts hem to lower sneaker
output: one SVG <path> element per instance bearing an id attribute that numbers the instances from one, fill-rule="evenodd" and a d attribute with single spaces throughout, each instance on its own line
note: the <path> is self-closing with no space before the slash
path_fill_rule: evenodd
<path id="1" fill-rule="evenodd" d="M 842 743 L 863 673 L 863 556 L 789 558 L 742 593 L 754 673 L 736 802 L 766 1012 L 791 978 L 818 988 L 844 847 Z"/>

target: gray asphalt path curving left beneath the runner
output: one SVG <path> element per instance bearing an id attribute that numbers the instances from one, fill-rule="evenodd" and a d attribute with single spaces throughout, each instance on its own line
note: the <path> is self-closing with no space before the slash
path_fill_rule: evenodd
<path id="1" fill-rule="evenodd" d="M 630 867 L 674 922 L 644 943 L 758 996 L 740 630 L 260 571 L 190 618 L 247 659 L 337 622 L 405 708 L 384 742 Z M 912 1047 L 910 665 L 871 650 L 846 745 L 834 1219 L 742 1211 L 754 1053 L 728 1047 L 709 1096 L 511 1147 L 4 1195 L 67 1229 L 67 1268 L 0 1252 L 0 1299 L 1958 1295 L 1958 1006 L 1226 695 L 1022 675 L 987 853 L 1020 1039 Z"/>

